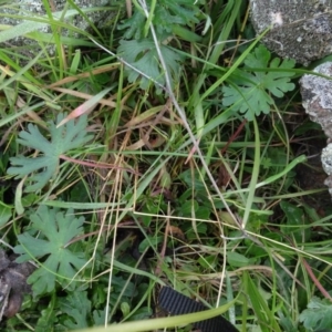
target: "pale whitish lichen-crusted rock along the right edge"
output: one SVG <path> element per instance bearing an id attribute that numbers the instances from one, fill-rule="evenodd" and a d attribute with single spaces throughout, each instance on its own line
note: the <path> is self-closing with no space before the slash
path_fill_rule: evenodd
<path id="1" fill-rule="evenodd" d="M 317 66 L 313 72 L 332 77 L 332 62 Z M 313 122 L 321 125 L 328 136 L 329 144 L 322 151 L 321 160 L 329 175 L 324 184 L 332 195 L 332 81 L 317 75 L 303 75 L 300 85 L 305 112 Z"/>

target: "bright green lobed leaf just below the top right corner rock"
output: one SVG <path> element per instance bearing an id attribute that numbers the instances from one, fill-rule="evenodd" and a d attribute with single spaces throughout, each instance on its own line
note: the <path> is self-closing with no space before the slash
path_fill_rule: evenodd
<path id="1" fill-rule="evenodd" d="M 263 45 L 258 46 L 247 56 L 245 70 L 236 71 L 236 77 L 229 81 L 230 85 L 222 87 L 224 106 L 232 105 L 235 112 L 243 113 L 245 117 L 251 121 L 261 112 L 264 114 L 270 112 L 270 106 L 273 104 L 270 94 L 282 97 L 286 92 L 295 87 L 290 82 L 294 73 L 289 71 L 295 62 L 283 60 L 280 63 L 278 58 L 270 62 L 270 59 L 271 53 Z"/>

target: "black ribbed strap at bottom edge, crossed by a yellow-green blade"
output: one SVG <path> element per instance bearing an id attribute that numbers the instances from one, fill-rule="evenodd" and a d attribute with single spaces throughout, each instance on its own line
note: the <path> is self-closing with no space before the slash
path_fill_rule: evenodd
<path id="1" fill-rule="evenodd" d="M 208 310 L 205 305 L 196 302 L 169 287 L 163 287 L 159 293 L 159 307 L 172 314 L 185 314 Z M 194 323 L 201 332 L 238 332 L 238 330 L 221 315 Z"/>

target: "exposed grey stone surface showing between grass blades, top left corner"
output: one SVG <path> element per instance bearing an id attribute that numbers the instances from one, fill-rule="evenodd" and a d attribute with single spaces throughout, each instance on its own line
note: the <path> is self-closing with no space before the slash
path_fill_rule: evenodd
<path id="1" fill-rule="evenodd" d="M 85 12 L 89 8 L 93 7 L 105 7 L 111 3 L 112 0 L 73 0 L 73 2 Z M 50 7 L 52 11 L 54 12 L 54 17 L 61 18 L 61 11 L 65 8 L 64 13 L 69 13 L 72 8 L 71 6 L 66 6 L 66 0 L 52 0 L 49 1 Z M 66 7 L 65 7 L 66 6 Z M 56 12 L 60 12 L 56 15 Z M 46 11 L 43 6 L 42 0 L 11 0 L 10 6 L 2 6 L 0 7 L 0 24 L 10 25 L 10 27 L 19 27 L 19 24 L 23 22 L 31 22 L 31 20 L 23 20 L 23 19 L 17 19 L 12 18 L 12 15 L 19 15 L 19 17 L 41 17 L 45 18 Z M 89 20 L 91 20 L 97 28 L 101 28 L 102 24 L 105 22 L 105 20 L 110 17 L 111 12 L 105 10 L 98 10 L 98 11 L 91 11 L 85 12 Z M 87 20 L 81 15 L 80 13 L 71 14 L 70 18 L 65 19 L 66 22 L 70 22 L 75 28 L 86 31 L 90 28 L 90 23 Z M 40 22 L 33 22 L 31 25 L 39 27 L 38 31 L 43 33 L 51 33 L 52 28 L 49 24 L 43 24 Z M 23 27 L 22 27 L 23 28 Z M 31 30 L 31 28 L 30 28 Z M 66 29 L 61 29 L 61 35 L 62 37 L 79 37 L 76 32 L 73 33 L 73 31 L 69 31 Z M 0 34 L 6 33 L 7 31 L 0 32 Z M 15 31 L 17 32 L 17 31 Z M 28 32 L 30 32 L 28 30 Z M 10 39 L 8 42 L 10 46 L 18 46 L 17 50 L 19 53 L 29 55 L 30 58 L 32 55 L 32 50 L 40 51 L 41 48 L 38 46 L 38 42 L 34 39 L 27 38 L 21 35 L 22 32 L 18 31 L 17 33 L 13 33 L 13 38 Z M 50 34 L 51 39 L 51 34 Z M 44 40 L 44 44 L 49 44 L 46 40 Z M 3 43 L 2 43 L 3 45 Z M 7 43 L 8 48 L 8 43 Z M 37 49 L 37 50 L 35 50 Z M 54 48 L 49 46 L 48 51 L 52 54 L 54 53 Z"/>

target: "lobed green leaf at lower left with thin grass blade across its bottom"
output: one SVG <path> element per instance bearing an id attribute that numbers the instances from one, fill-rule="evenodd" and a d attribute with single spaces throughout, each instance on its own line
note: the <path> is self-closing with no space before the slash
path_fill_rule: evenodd
<path id="1" fill-rule="evenodd" d="M 66 214 L 56 208 L 40 206 L 35 214 L 31 215 L 32 229 L 40 234 L 41 238 L 34 238 L 29 232 L 18 236 L 20 245 L 14 252 L 21 255 L 17 261 L 28 261 L 32 258 L 40 259 L 48 256 L 42 266 L 28 279 L 33 283 L 34 295 L 51 292 L 55 287 L 55 280 L 61 284 L 72 283 L 75 273 L 86 262 L 83 252 L 73 252 L 68 248 L 70 240 L 82 234 L 84 218 L 75 218 L 73 209 Z"/>

